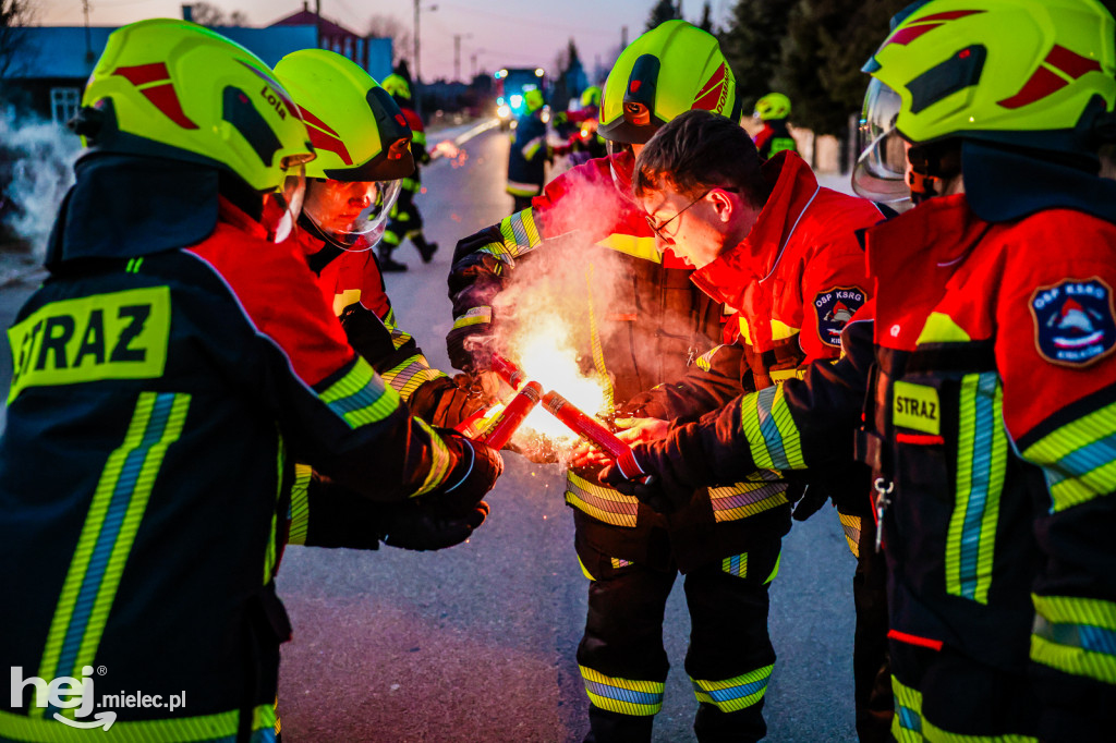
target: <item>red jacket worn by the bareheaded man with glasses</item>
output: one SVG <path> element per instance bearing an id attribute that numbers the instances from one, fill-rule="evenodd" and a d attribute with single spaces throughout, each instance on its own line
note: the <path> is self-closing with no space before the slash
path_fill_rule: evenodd
<path id="1" fill-rule="evenodd" d="M 856 232 L 878 222 L 879 209 L 819 186 L 795 153 L 768 161 L 762 174 L 771 183 L 771 195 L 748 237 L 691 277 L 703 292 L 737 312 L 735 342 L 699 358 L 683 380 L 653 389 L 646 396 L 648 415 L 692 419 L 720 407 L 724 390 L 733 386 L 766 389 L 804 374 L 812 361 L 838 358 L 840 331 L 868 297 Z M 811 481 L 838 503 L 856 553 L 859 517 L 868 515 L 865 483 L 845 471 Z M 787 490 L 788 483 L 769 484 L 776 486 Z M 790 500 L 800 491 L 801 485 L 792 486 Z"/>

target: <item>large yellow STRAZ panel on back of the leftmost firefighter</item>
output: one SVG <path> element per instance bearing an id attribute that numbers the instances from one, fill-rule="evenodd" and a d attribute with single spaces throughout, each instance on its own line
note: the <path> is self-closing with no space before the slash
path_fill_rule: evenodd
<path id="1" fill-rule="evenodd" d="M 11 403 L 27 387 L 162 376 L 171 289 L 153 287 L 52 302 L 8 330 Z"/>

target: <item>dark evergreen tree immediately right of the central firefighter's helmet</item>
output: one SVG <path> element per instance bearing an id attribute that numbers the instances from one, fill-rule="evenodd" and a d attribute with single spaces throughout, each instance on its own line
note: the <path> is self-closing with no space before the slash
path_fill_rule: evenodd
<path id="1" fill-rule="evenodd" d="M 772 89 L 793 7 L 792 0 L 738 0 L 728 28 L 719 35 L 745 114 Z"/>

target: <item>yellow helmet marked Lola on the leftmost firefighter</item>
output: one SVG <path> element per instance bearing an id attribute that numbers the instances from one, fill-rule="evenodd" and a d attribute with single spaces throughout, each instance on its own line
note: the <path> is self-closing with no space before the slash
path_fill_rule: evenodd
<path id="1" fill-rule="evenodd" d="M 251 51 L 172 19 L 108 37 L 74 123 L 94 152 L 164 157 L 231 171 L 273 191 L 314 158 L 298 107 Z"/>

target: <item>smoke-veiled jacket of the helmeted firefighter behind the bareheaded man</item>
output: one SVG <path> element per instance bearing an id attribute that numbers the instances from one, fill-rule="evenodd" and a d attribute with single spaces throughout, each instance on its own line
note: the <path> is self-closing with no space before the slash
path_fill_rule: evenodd
<path id="1" fill-rule="evenodd" d="M 548 183 L 531 209 L 458 243 L 450 276 L 455 318 L 448 338 L 451 360 L 470 361 L 461 334 L 478 327 L 485 334 L 500 332 L 503 320 L 499 308 L 493 311 L 500 292 L 543 274 L 568 274 L 570 266 L 579 267 L 584 282 L 562 292 L 585 298 L 578 299 L 584 324 L 576 327 L 585 331 L 578 350 L 609 385 L 616 405 L 681 378 L 687 361 L 712 348 L 723 334 L 722 307 L 696 289 L 681 259 L 655 248 L 643 212 L 619 193 L 609 161 L 600 158 Z M 739 389 L 733 383 L 721 402 Z M 739 553 L 741 534 L 752 529 L 786 532 L 789 506 L 781 493 L 753 502 L 767 493 L 766 484 L 758 479 L 709 495 L 702 490 L 691 508 L 667 522 L 636 499 L 598 484 L 596 472 L 578 470 L 569 472 L 566 501 L 577 510 L 579 539 L 613 557 L 646 561 L 652 530 L 684 534 L 672 543 L 685 570 Z M 761 518 L 773 520 L 773 525 L 761 524 Z"/>

